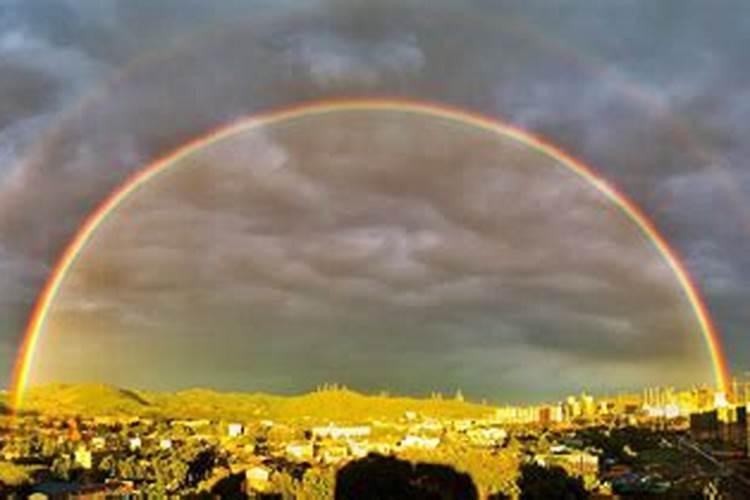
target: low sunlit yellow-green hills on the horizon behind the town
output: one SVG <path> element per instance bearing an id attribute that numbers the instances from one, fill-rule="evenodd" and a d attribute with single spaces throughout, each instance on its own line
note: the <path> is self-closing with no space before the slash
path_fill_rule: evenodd
<path id="1" fill-rule="evenodd" d="M 179 392 L 128 390 L 104 384 L 51 384 L 30 388 L 24 396 L 27 411 L 83 416 L 143 416 L 210 418 L 218 420 L 332 420 L 393 419 L 414 411 L 425 416 L 477 418 L 490 406 L 452 399 L 369 396 L 347 389 L 316 391 L 300 396 L 217 392 L 190 389 Z"/>

